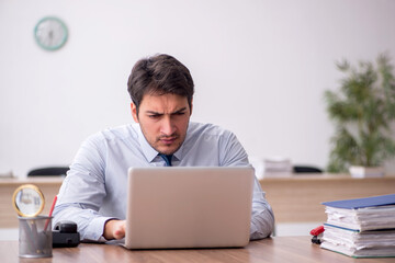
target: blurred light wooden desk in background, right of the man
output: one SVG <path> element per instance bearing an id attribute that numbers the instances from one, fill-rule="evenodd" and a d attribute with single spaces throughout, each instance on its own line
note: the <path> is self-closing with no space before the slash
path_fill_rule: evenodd
<path id="1" fill-rule="evenodd" d="M 293 174 L 260 180 L 275 222 L 324 222 L 323 202 L 394 194 L 395 175 L 354 179 L 349 174 Z"/>

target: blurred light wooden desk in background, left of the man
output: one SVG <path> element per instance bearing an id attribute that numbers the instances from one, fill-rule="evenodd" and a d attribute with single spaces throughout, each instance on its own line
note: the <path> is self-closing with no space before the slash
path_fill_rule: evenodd
<path id="1" fill-rule="evenodd" d="M 52 202 L 59 193 L 63 176 L 34 176 L 26 179 L 0 179 L 0 228 L 18 228 L 16 211 L 12 206 L 12 194 L 22 184 L 35 184 L 44 194 L 43 215 L 48 215 Z"/>

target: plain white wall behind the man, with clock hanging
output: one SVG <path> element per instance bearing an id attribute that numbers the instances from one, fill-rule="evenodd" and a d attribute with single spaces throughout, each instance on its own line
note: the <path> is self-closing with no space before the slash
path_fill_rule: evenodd
<path id="1" fill-rule="evenodd" d="M 133 122 L 127 77 L 156 53 L 190 68 L 192 121 L 232 129 L 250 156 L 325 167 L 335 61 L 395 56 L 394 14 L 390 0 L 1 0 L 0 173 L 68 164 L 88 135 Z M 58 52 L 33 38 L 47 15 L 69 28 Z"/>

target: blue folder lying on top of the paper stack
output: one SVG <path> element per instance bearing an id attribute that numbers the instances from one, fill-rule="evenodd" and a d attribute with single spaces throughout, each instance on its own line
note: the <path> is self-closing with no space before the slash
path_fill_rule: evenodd
<path id="1" fill-rule="evenodd" d="M 325 202 L 323 203 L 323 205 L 336 207 L 336 208 L 345 208 L 345 209 L 358 209 L 363 207 L 395 205 L 395 194 L 380 195 L 380 196 L 357 198 L 357 199 Z"/>

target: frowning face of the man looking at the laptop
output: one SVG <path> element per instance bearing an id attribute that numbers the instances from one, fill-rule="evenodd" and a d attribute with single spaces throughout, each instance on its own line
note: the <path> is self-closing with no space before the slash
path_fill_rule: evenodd
<path id="1" fill-rule="evenodd" d="M 144 137 L 154 149 L 172 155 L 181 147 L 192 113 L 185 96 L 145 94 L 138 114 L 136 105 L 131 105 L 134 121 L 139 123 Z"/>

